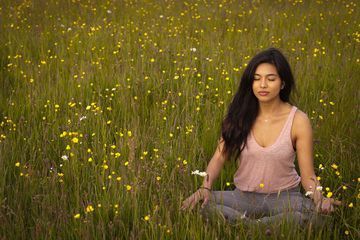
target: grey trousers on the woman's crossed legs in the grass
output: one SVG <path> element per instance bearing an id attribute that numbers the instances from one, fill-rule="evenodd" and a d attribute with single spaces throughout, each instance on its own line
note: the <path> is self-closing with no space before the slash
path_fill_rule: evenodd
<path id="1" fill-rule="evenodd" d="M 278 193 L 212 191 L 211 199 L 202 209 L 209 219 L 221 217 L 230 223 L 238 221 L 274 223 L 283 220 L 319 223 L 315 204 L 300 193 L 300 187 Z M 210 219 L 213 220 L 213 219 Z"/>

